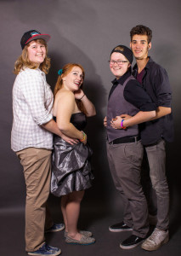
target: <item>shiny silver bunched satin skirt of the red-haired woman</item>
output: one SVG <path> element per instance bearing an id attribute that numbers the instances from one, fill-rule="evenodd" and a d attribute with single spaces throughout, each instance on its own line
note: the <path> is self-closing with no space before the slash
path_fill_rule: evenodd
<path id="1" fill-rule="evenodd" d="M 92 154 L 88 144 L 71 145 L 61 137 L 54 136 L 51 193 L 61 196 L 89 189 L 93 180 L 90 165 Z"/>

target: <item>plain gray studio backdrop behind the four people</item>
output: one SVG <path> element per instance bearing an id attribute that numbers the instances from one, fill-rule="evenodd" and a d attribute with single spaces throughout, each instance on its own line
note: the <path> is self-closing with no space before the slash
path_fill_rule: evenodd
<path id="1" fill-rule="evenodd" d="M 95 182 L 87 201 L 106 207 L 116 205 L 115 189 L 105 154 L 107 96 L 110 90 L 108 60 L 117 44 L 129 45 L 129 31 L 144 24 L 153 30 L 150 55 L 167 69 L 173 87 L 175 141 L 167 145 L 167 176 L 171 189 L 171 212 L 179 214 L 180 195 L 180 0 L 2 0 L 0 1 L 0 211 L 18 211 L 25 205 L 25 182 L 19 160 L 10 148 L 12 125 L 11 91 L 14 61 L 21 54 L 20 38 L 37 29 L 49 33 L 48 55 L 52 67 L 48 83 L 54 89 L 57 71 L 65 63 L 79 62 L 85 68 L 85 91 L 97 109 L 88 121 L 88 141 L 93 148 Z M 177 210 L 177 211 L 176 211 Z"/>

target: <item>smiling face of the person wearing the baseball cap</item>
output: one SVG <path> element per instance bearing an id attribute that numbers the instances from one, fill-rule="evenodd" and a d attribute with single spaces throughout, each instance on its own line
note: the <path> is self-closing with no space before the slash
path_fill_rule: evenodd
<path id="1" fill-rule="evenodd" d="M 37 43 L 37 41 L 31 41 L 27 48 L 27 54 L 31 62 L 40 66 L 46 56 L 46 47 L 44 44 Z"/>

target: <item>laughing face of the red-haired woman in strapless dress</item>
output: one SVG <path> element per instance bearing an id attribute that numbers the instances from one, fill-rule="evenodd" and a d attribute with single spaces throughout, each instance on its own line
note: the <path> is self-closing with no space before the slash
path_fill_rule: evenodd
<path id="1" fill-rule="evenodd" d="M 71 72 L 63 76 L 63 85 L 66 90 L 79 90 L 83 83 L 83 73 L 81 67 L 74 66 Z"/>

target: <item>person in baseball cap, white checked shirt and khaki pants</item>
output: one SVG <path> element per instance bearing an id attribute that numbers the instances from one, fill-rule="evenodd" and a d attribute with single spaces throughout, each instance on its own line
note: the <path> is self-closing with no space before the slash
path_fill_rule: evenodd
<path id="1" fill-rule="evenodd" d="M 59 131 L 53 119 L 54 96 L 46 81 L 50 67 L 47 42 L 50 36 L 37 30 L 20 40 L 22 54 L 14 64 L 13 127 L 11 148 L 24 168 L 26 184 L 25 250 L 29 255 L 59 255 L 60 249 L 45 243 L 44 232 L 63 230 L 46 216 L 51 178 L 53 133 L 76 143 Z M 45 223 L 46 217 L 46 223 Z"/>

